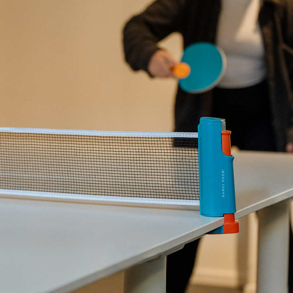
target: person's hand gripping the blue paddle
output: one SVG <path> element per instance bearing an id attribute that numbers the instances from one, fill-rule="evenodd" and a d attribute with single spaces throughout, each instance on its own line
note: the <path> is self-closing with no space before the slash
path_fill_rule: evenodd
<path id="1" fill-rule="evenodd" d="M 148 65 L 149 73 L 154 77 L 174 77 L 172 67 L 177 64 L 172 54 L 165 50 L 156 51 Z"/>

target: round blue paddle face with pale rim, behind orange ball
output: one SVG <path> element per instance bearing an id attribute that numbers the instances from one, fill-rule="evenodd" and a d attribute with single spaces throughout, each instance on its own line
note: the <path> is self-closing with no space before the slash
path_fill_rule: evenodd
<path id="1" fill-rule="evenodd" d="M 216 86 L 226 71 L 226 57 L 217 46 L 199 42 L 185 48 L 181 62 L 190 66 L 190 75 L 179 80 L 179 86 L 189 93 L 201 93 Z"/>

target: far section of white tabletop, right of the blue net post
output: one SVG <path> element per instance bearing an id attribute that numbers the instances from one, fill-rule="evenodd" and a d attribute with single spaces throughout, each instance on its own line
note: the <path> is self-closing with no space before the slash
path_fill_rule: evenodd
<path id="1" fill-rule="evenodd" d="M 293 154 L 240 151 L 234 181 L 236 218 L 293 197 Z"/>

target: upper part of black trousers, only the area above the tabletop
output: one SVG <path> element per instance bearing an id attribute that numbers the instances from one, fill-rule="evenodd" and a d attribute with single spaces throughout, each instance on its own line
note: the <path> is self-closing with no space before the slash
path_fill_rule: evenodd
<path id="1" fill-rule="evenodd" d="M 212 116 L 226 120 L 231 145 L 241 150 L 276 151 L 266 81 L 248 88 L 216 88 Z"/>

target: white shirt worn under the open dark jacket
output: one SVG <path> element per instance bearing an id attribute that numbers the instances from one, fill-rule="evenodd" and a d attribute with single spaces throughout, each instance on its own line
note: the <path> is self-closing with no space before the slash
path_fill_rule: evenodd
<path id="1" fill-rule="evenodd" d="M 253 86 L 266 77 L 258 13 L 260 0 L 222 0 L 217 45 L 227 57 L 222 88 Z"/>

